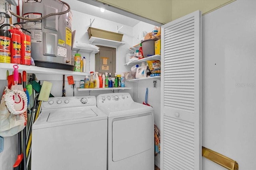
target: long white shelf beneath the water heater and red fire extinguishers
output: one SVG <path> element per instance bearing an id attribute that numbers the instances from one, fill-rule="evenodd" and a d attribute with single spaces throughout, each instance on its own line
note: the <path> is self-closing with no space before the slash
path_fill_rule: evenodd
<path id="1" fill-rule="evenodd" d="M 0 69 L 2 71 L 10 70 L 13 71 L 14 64 L 10 63 L 0 63 Z M 81 76 L 90 76 L 89 73 L 86 72 L 76 72 L 76 71 L 69 71 L 69 70 L 60 70 L 60 69 L 55 69 L 55 68 L 45 68 L 45 67 L 38 67 L 38 66 L 27 66 L 27 65 L 22 65 L 18 64 L 19 72 L 25 70 L 27 73 L 34 73 L 34 74 L 64 74 L 64 75 L 81 75 Z M 11 72 L 10 72 L 11 73 Z"/>

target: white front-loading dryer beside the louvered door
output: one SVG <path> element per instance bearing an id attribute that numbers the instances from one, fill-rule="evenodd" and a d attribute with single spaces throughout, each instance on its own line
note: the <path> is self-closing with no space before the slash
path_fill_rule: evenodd
<path id="1" fill-rule="evenodd" d="M 97 96 L 108 115 L 108 170 L 154 170 L 154 109 L 129 93 Z"/>

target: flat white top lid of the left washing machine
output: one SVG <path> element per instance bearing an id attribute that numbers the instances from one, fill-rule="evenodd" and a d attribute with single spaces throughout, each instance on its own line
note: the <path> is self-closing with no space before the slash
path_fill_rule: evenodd
<path id="1" fill-rule="evenodd" d="M 74 112 L 70 111 L 52 111 L 49 113 L 47 121 L 65 121 L 76 118 L 92 117 L 97 116 L 92 109 L 82 109 L 76 110 Z"/>

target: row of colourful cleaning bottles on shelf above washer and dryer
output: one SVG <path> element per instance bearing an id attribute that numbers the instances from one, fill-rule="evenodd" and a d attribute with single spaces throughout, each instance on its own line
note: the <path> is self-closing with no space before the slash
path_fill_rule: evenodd
<path id="1" fill-rule="evenodd" d="M 94 78 L 95 73 L 95 78 Z M 90 78 L 85 76 L 84 80 L 80 81 L 80 88 L 112 88 L 124 87 L 124 74 L 116 74 L 111 77 L 111 73 L 105 72 L 90 72 Z"/>

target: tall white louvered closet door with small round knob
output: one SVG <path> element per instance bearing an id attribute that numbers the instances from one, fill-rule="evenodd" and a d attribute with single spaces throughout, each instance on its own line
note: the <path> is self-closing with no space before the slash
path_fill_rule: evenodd
<path id="1" fill-rule="evenodd" d="M 161 170 L 200 170 L 201 12 L 162 26 Z"/>

